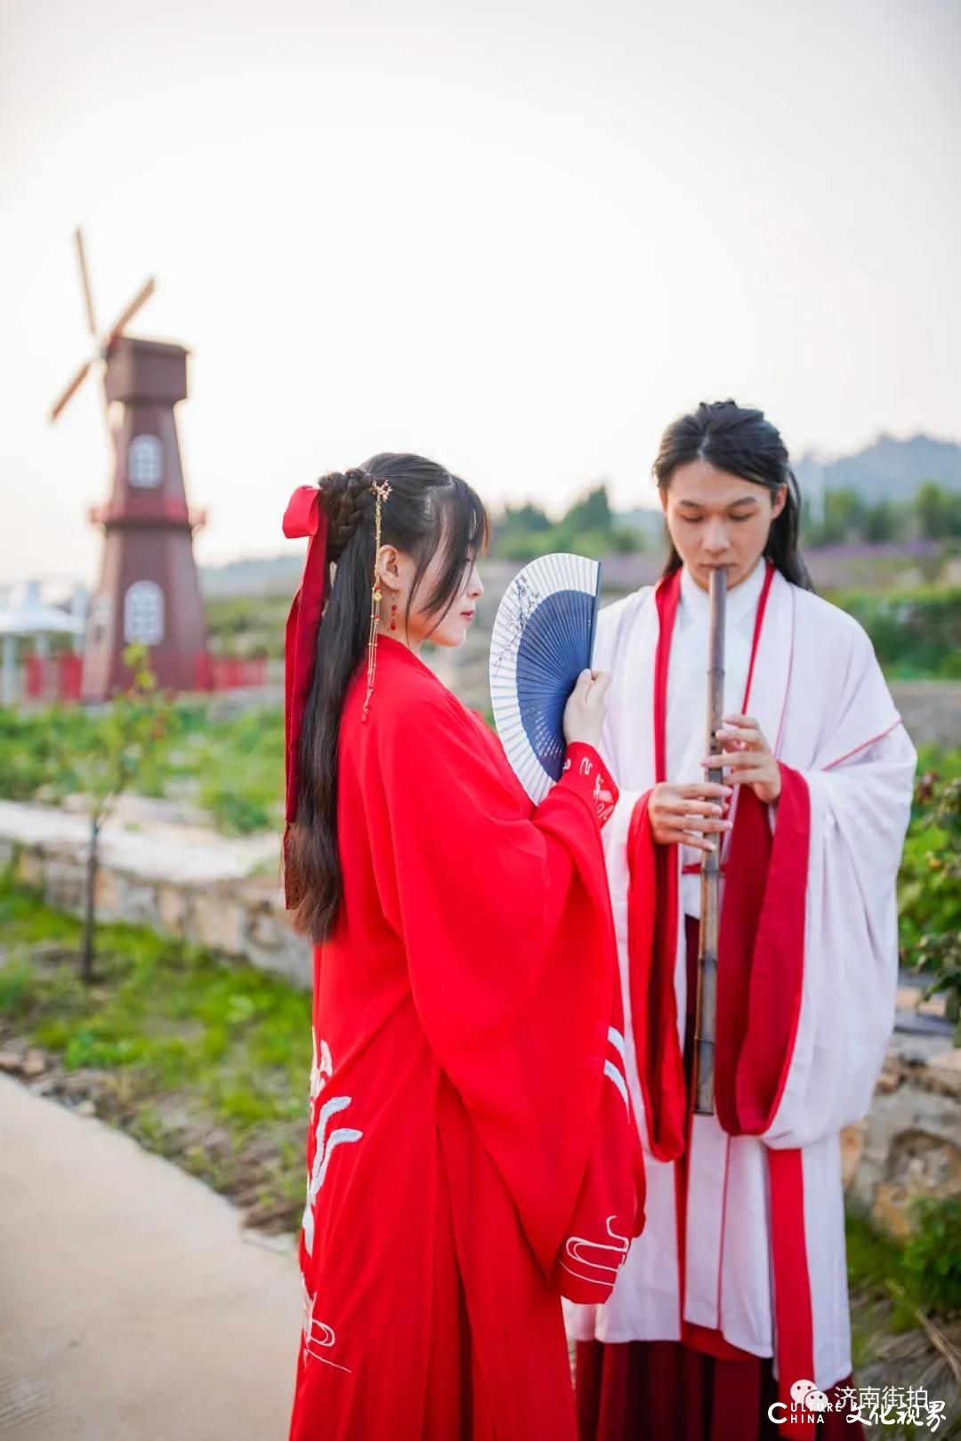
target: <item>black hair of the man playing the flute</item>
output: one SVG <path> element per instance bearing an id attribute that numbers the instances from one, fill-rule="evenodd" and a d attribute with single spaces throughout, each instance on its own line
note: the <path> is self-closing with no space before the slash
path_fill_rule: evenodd
<path id="1" fill-rule="evenodd" d="M 801 491 L 788 463 L 787 445 L 779 431 L 765 419 L 764 411 L 749 411 L 733 401 L 702 401 L 690 415 L 681 415 L 661 438 L 654 461 L 657 488 L 666 491 L 674 471 L 694 460 L 706 460 L 716 470 L 765 486 L 772 494 L 787 486 L 787 501 L 771 526 L 764 555 L 792 585 L 813 589 L 798 552 Z M 680 571 L 683 563 L 670 536 L 669 543 L 664 575 Z"/>

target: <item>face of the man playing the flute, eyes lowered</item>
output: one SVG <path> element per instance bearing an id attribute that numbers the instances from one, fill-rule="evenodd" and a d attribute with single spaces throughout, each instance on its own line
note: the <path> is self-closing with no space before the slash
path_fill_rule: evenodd
<path id="1" fill-rule="evenodd" d="M 787 499 L 787 486 L 769 490 L 716 470 L 706 460 L 679 465 L 667 490 L 661 490 L 670 537 L 705 591 L 710 572 L 722 566 L 728 571 L 729 586 L 751 575 Z"/>

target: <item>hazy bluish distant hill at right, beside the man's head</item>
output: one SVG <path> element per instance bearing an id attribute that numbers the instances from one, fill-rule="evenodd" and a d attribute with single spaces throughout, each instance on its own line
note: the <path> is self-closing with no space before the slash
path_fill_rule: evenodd
<path id="1" fill-rule="evenodd" d="M 808 452 L 794 471 L 801 494 L 817 494 L 823 484 L 826 490 L 856 490 L 875 504 L 880 500 L 911 500 L 924 480 L 961 490 L 961 445 L 935 441 L 929 435 L 915 435 L 908 441 L 879 435 L 873 445 L 856 455 L 826 461 Z"/>

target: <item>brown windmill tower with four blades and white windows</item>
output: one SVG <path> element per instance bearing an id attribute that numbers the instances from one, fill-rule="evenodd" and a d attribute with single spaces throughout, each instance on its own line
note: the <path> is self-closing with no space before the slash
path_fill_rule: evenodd
<path id="1" fill-rule="evenodd" d="M 153 280 L 98 340 L 79 229 L 75 241 L 97 349 L 53 405 L 50 421 L 101 369 L 114 452 L 109 500 L 89 513 L 104 530 L 104 559 L 89 607 L 81 696 L 105 700 L 121 689 L 130 679 L 122 651 L 134 643 L 150 647 L 160 686 L 193 690 L 206 674 L 207 633 L 192 546 L 203 516 L 187 506 L 174 416 L 187 395 L 187 352 L 124 334 L 153 295 Z"/>

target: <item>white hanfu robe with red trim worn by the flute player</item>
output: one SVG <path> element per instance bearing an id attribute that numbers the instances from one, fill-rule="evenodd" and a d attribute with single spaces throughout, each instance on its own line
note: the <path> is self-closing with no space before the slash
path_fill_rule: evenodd
<path id="1" fill-rule="evenodd" d="M 764 565 L 730 591 L 725 709 L 756 718 L 782 794 L 762 807 L 736 790 L 722 852 L 719 1114 L 692 1117 L 683 912 L 699 914 L 699 876 L 681 866 L 700 853 L 654 846 L 647 797 L 658 768 L 670 781 L 705 775 L 706 656 L 707 597 L 687 572 L 599 615 L 595 666 L 612 677 L 602 751 L 621 790 L 604 840 L 647 1228 L 612 1298 L 572 1308 L 569 1326 L 601 1342 L 707 1327 L 774 1356 L 782 1396 L 800 1379 L 827 1391 L 852 1370 L 840 1131 L 867 1111 L 893 1027 L 895 879 L 916 758 L 854 620 Z"/>

